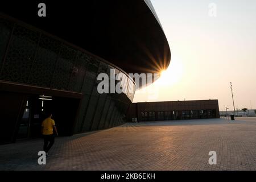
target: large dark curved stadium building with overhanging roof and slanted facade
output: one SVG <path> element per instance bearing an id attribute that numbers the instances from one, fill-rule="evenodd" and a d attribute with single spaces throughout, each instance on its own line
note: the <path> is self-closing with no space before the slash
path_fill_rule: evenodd
<path id="1" fill-rule="evenodd" d="M 46 3 L 46 17 L 38 4 Z M 40 136 L 52 110 L 60 135 L 121 125 L 136 85 L 127 73 L 168 67 L 154 8 L 134 1 L 0 2 L 0 143 Z M 124 73 L 128 93 L 99 94 L 97 76 Z"/>

